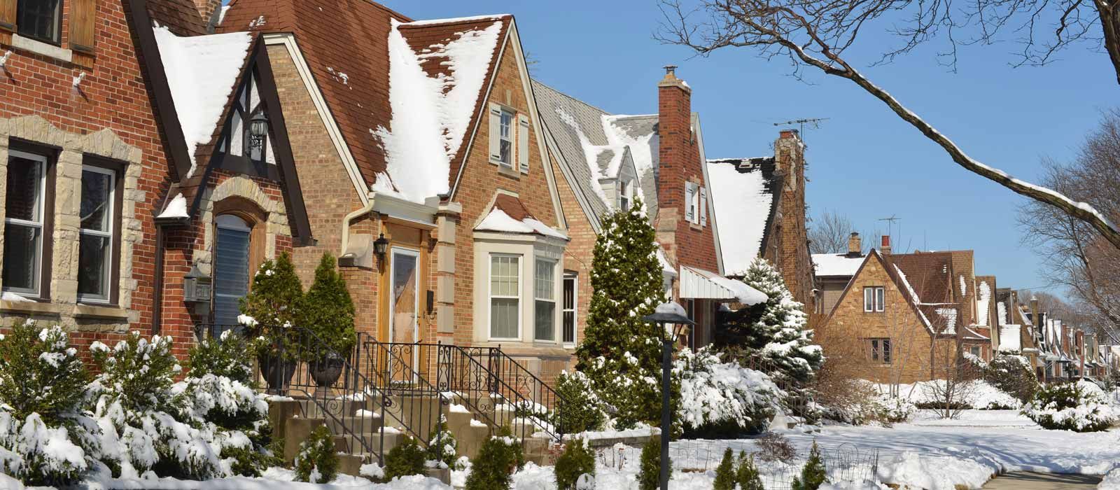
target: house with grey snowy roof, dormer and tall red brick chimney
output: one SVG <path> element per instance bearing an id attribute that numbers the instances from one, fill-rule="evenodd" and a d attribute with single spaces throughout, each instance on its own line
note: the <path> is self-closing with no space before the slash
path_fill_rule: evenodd
<path id="1" fill-rule="evenodd" d="M 673 68 L 657 83 L 655 114 L 613 115 L 535 81 L 533 91 L 563 176 L 564 215 L 586 216 L 597 230 L 605 214 L 640 198 L 657 233 L 666 291 L 697 322 L 685 343 L 700 347 L 712 339 L 720 303 L 759 293 L 724 276 L 700 117 Z M 594 236 L 572 239 L 589 267 Z"/>

